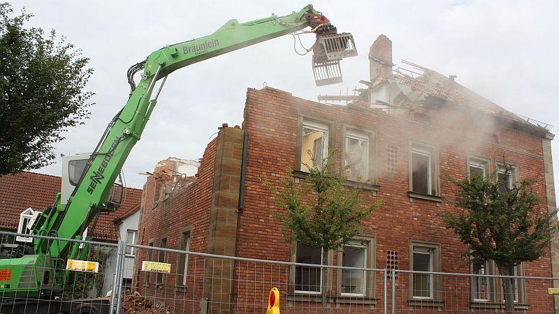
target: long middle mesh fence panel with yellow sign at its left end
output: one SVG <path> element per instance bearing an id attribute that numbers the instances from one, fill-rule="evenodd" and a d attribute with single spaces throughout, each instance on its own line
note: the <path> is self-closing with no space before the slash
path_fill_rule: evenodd
<path id="1" fill-rule="evenodd" d="M 135 274 L 132 290 L 122 297 L 124 313 L 266 313 L 272 287 L 279 290 L 282 312 L 321 313 L 322 268 L 328 278 L 328 313 L 385 313 L 384 269 L 321 267 L 133 247 Z M 165 272 L 145 271 L 143 264 Z"/>

